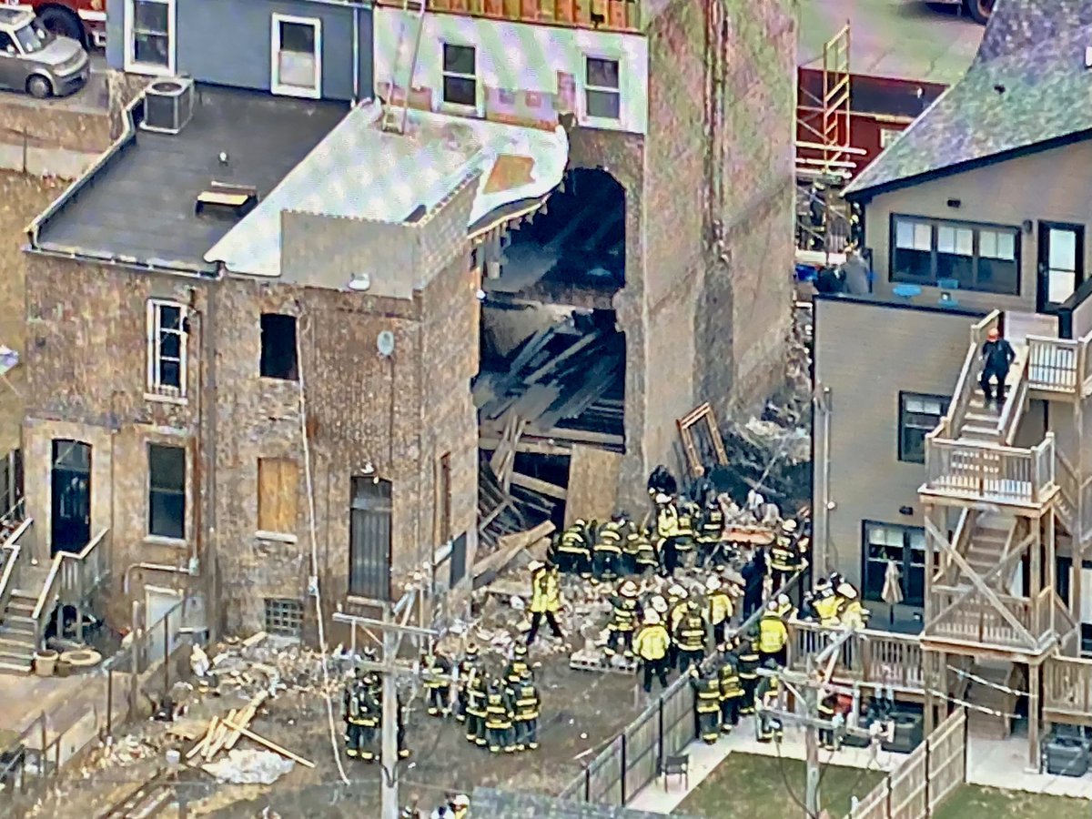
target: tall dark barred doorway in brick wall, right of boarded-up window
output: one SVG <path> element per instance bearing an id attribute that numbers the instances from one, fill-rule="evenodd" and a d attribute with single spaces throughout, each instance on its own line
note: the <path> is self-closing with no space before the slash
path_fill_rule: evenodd
<path id="1" fill-rule="evenodd" d="M 348 593 L 368 600 L 391 598 L 391 482 L 352 479 L 349 503 Z"/>

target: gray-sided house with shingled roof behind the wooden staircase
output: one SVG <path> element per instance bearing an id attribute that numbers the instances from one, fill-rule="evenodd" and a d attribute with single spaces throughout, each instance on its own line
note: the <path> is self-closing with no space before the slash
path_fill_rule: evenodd
<path id="1" fill-rule="evenodd" d="M 1083 495 L 1092 465 L 1085 396 L 1049 379 L 1076 369 L 1066 378 L 1084 387 L 1092 331 L 1089 43 L 1087 0 L 999 3 L 964 79 L 846 189 L 862 209 L 873 292 L 815 301 L 816 558 L 873 601 L 892 559 L 906 604 L 927 614 L 926 524 L 942 502 L 923 487 L 947 479 L 930 468 L 964 439 L 971 454 L 959 456 L 976 456 L 976 441 L 994 440 L 994 427 L 969 420 L 959 435 L 939 430 L 935 437 L 959 443 L 938 442 L 933 467 L 926 436 L 946 418 L 985 417 L 968 407 L 977 391 L 968 351 L 987 323 L 1018 348 L 1029 384 L 1007 416 L 1019 424 L 997 420 L 998 444 L 1031 451 L 1051 438 L 1058 474 L 1076 473 Z M 957 530 L 960 511 L 937 512 L 939 529 Z M 1081 572 L 1071 569 L 1084 533 L 1073 534 L 1058 535 L 1051 574 L 1080 616 Z M 1025 559 L 1023 579 L 1018 571 L 999 589 L 1035 585 L 1030 566 Z M 1084 566 L 1092 582 L 1092 563 Z M 1085 608 L 1082 619 L 1092 621 Z"/>

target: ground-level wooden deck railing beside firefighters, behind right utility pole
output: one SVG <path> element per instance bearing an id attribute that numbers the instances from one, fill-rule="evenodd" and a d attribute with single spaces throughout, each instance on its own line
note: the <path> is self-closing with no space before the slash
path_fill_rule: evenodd
<path id="1" fill-rule="evenodd" d="M 805 657 L 822 651 L 839 632 L 816 622 L 788 624 L 788 663 L 803 669 Z M 922 646 L 917 634 L 864 629 L 843 644 L 835 678 L 924 690 Z"/>

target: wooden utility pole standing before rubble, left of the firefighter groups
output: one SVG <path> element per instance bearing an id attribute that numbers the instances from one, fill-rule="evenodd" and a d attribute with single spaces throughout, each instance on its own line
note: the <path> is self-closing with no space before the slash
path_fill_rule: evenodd
<path id="1" fill-rule="evenodd" d="M 369 629 L 377 629 L 381 633 L 381 644 L 383 649 L 379 662 L 360 661 L 357 667 L 366 672 L 376 672 L 381 675 L 383 684 L 383 712 L 381 728 L 381 755 L 380 755 L 380 778 L 382 790 L 383 810 L 381 819 L 399 819 L 402 808 L 399 805 L 399 684 L 397 675 L 414 675 L 416 663 L 405 665 L 397 663 L 399 650 L 402 648 L 402 638 L 406 634 L 415 638 L 416 641 L 432 640 L 439 632 L 434 629 L 422 628 L 408 625 L 410 616 L 414 612 L 414 600 L 417 594 L 423 593 L 417 587 L 410 587 L 401 600 L 393 606 L 383 606 L 382 619 L 372 617 L 359 617 L 347 615 L 341 612 L 334 614 L 334 622 L 345 622 L 351 626 L 364 627 L 365 633 L 370 633 Z M 401 618 L 401 619 L 400 619 Z"/>

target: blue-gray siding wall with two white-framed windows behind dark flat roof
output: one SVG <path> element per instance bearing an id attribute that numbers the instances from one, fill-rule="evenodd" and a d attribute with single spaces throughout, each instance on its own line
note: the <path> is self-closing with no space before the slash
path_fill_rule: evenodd
<path id="1" fill-rule="evenodd" d="M 372 96 L 371 5 L 107 0 L 107 63 L 311 99 Z"/>

